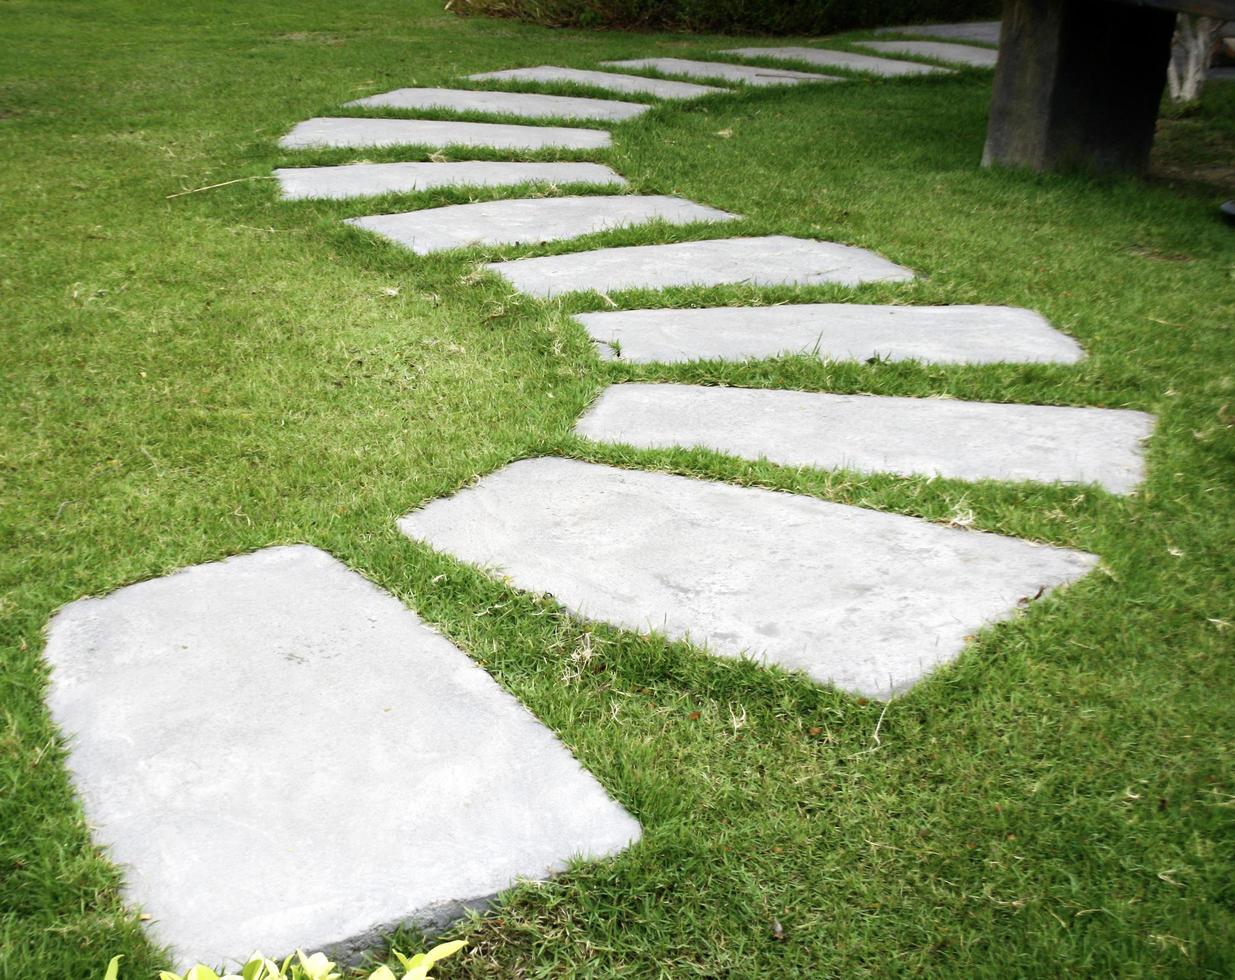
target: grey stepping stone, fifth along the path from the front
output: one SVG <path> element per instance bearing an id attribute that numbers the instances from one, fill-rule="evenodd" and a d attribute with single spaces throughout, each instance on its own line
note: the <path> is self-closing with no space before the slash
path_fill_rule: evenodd
<path id="1" fill-rule="evenodd" d="M 840 283 L 903 283 L 908 269 L 873 252 L 835 242 L 772 235 L 659 246 L 627 246 L 568 255 L 492 262 L 484 268 L 505 276 L 532 296 L 618 289 L 715 286 L 752 283 L 760 286 Z"/>

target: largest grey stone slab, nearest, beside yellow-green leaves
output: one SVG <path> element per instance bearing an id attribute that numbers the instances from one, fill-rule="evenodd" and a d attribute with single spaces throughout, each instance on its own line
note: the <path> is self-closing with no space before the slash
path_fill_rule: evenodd
<path id="1" fill-rule="evenodd" d="M 316 548 L 73 602 L 47 659 L 95 839 L 180 961 L 354 955 L 640 834 L 484 670 Z"/>

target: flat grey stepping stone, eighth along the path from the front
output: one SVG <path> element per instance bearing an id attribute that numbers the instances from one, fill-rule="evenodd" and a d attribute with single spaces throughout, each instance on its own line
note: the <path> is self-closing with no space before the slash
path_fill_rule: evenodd
<path id="1" fill-rule="evenodd" d="M 562 126 L 513 126 L 499 122 L 451 122 L 415 118 L 342 116 L 298 122 L 279 141 L 284 149 L 320 147 L 493 147 L 495 149 L 601 149 L 605 130 Z"/>

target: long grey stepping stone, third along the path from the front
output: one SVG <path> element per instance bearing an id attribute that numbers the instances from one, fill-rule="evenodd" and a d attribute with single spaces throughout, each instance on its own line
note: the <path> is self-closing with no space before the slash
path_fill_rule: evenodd
<path id="1" fill-rule="evenodd" d="M 1126 494 L 1145 479 L 1153 416 L 1120 409 L 829 395 L 748 388 L 619 384 L 576 426 L 597 442 L 703 447 L 787 467 L 1095 483 Z"/>

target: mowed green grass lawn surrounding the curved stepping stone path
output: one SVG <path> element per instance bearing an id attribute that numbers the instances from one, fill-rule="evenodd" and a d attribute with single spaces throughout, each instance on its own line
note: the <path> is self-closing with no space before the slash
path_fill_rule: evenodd
<path id="1" fill-rule="evenodd" d="M 613 151 L 561 158 L 741 223 L 417 258 L 340 218 L 514 191 L 280 202 L 273 167 L 429 151 L 295 154 L 277 138 L 463 72 L 741 39 L 464 21 L 429 0 L 11 0 L 0 36 L 0 976 L 90 976 L 116 953 L 126 976 L 164 963 L 70 791 L 42 701 L 48 617 L 287 542 L 438 626 L 643 824 L 619 858 L 453 929 L 471 947 L 445 978 L 1235 974 L 1235 233 L 1215 212 L 1230 84 L 1165 123 L 1171 178 L 1147 183 L 979 170 L 976 72 L 658 106 L 614 127 Z M 919 279 L 611 301 L 1010 304 L 1091 355 L 604 364 L 568 318 L 604 299 L 536 302 L 474 272 L 740 233 L 866 246 Z M 1126 499 L 574 439 L 624 379 L 1102 405 L 1158 423 L 1149 481 Z M 1102 567 L 884 707 L 574 621 L 396 533 L 399 515 L 545 453 L 961 522 Z M 295 711 L 272 701 L 272 717 Z M 406 785 L 390 774 L 391 806 L 432 807 Z"/>

